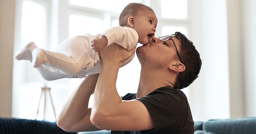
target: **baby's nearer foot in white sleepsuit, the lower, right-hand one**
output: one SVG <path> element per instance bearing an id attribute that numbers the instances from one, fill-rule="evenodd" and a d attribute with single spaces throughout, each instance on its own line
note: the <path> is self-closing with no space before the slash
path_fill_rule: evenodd
<path id="1" fill-rule="evenodd" d="M 31 63 L 33 67 L 39 67 L 44 63 L 44 54 L 42 49 L 34 49 L 34 51 L 32 52 L 32 57 L 33 59 Z"/>

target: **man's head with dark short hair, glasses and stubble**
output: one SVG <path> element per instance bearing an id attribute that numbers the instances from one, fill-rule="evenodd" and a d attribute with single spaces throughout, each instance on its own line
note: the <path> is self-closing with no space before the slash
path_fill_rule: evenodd
<path id="1" fill-rule="evenodd" d="M 202 65 L 195 46 L 180 32 L 160 39 L 154 38 L 137 48 L 141 68 L 171 73 L 172 80 L 169 82 L 173 88 L 183 89 L 189 86 L 198 77 Z"/>

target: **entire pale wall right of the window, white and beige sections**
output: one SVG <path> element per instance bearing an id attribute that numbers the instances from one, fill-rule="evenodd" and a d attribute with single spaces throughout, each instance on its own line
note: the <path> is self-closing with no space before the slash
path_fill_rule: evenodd
<path id="1" fill-rule="evenodd" d="M 191 40 L 203 60 L 190 86 L 193 118 L 256 116 L 256 1 L 195 0 L 193 13 Z"/>

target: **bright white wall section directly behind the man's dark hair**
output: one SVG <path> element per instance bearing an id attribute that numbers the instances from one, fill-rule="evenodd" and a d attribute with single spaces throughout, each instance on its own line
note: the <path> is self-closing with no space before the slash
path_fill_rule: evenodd
<path id="1" fill-rule="evenodd" d="M 194 0 L 194 42 L 202 59 L 199 78 L 189 87 L 195 121 L 224 119 L 229 112 L 227 5 L 224 0 Z"/>

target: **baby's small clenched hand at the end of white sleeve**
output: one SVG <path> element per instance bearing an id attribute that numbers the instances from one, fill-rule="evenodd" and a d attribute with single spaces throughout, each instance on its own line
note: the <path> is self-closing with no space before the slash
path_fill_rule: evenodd
<path id="1" fill-rule="evenodd" d="M 101 36 L 100 38 L 92 39 L 91 46 L 95 52 L 101 51 L 108 44 L 108 39 L 106 36 Z"/>

